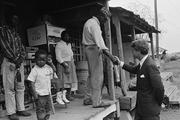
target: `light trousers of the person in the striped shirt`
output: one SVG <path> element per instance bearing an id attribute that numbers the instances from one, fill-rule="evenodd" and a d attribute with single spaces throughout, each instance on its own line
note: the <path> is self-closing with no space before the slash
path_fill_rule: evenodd
<path id="1" fill-rule="evenodd" d="M 12 68 L 13 66 L 13 68 Z M 5 91 L 6 111 L 8 115 L 16 113 L 16 111 L 24 111 L 24 66 L 21 64 L 21 82 L 17 82 L 15 75 L 17 70 L 15 64 L 4 58 L 1 65 L 3 75 L 3 87 Z"/>

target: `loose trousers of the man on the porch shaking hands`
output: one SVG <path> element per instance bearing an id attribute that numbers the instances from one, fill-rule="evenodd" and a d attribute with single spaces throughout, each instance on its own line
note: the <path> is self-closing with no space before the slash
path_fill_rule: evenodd
<path id="1" fill-rule="evenodd" d="M 101 88 L 103 84 L 102 54 L 97 46 L 86 46 L 85 54 L 89 69 L 85 98 L 91 96 L 93 106 L 97 106 L 101 103 Z M 90 91 L 90 95 L 88 94 L 88 90 Z"/>

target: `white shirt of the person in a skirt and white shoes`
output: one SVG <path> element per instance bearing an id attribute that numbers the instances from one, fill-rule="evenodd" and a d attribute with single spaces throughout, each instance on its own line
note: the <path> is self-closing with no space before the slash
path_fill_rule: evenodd
<path id="1" fill-rule="evenodd" d="M 64 61 L 71 61 L 73 59 L 73 51 L 70 43 L 66 43 L 63 40 L 57 43 L 55 48 L 56 60 L 59 63 Z"/>

